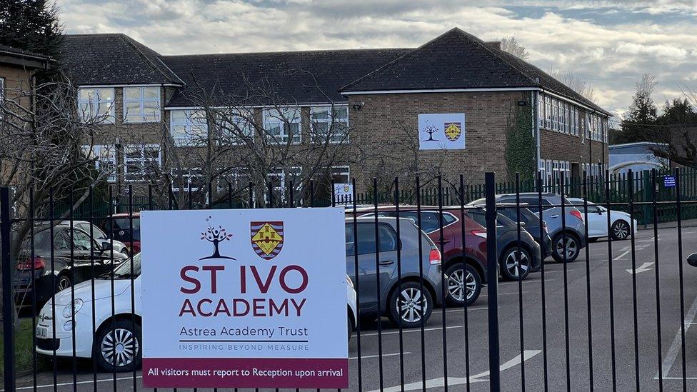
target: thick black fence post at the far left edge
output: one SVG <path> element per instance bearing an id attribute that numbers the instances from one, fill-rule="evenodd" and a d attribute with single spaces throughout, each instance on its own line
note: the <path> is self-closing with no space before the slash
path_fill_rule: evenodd
<path id="1" fill-rule="evenodd" d="M 4 388 L 14 391 L 14 294 L 10 258 L 10 189 L 0 188 L 0 257 L 2 258 L 2 328 L 4 335 Z"/>

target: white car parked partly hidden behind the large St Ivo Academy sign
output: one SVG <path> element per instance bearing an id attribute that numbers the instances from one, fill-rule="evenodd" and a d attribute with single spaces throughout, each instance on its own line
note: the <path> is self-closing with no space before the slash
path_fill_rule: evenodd
<path id="1" fill-rule="evenodd" d="M 92 358 L 104 371 L 132 371 L 141 363 L 141 253 L 133 257 L 134 307 L 131 308 L 131 263 L 121 263 L 114 269 L 114 311 L 111 311 L 110 275 L 94 279 L 95 328 L 92 329 L 92 285 L 84 281 L 71 290 L 56 293 L 39 313 L 36 325 L 36 352 L 46 356 L 75 356 Z M 349 316 L 349 339 L 356 326 L 356 291 L 346 276 Z M 55 303 L 56 318 L 53 318 Z M 74 321 L 72 319 L 74 313 Z M 114 314 L 114 317 L 111 315 Z M 135 323 L 134 323 L 135 321 Z M 56 328 L 54 337 L 53 328 Z M 113 358 L 116 358 L 114 361 Z"/>

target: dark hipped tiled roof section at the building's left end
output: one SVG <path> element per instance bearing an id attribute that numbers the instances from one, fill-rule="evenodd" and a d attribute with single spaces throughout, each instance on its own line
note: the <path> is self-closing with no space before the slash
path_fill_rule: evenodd
<path id="1" fill-rule="evenodd" d="M 75 84 L 183 84 L 152 49 L 125 34 L 67 35 L 63 59 Z"/>

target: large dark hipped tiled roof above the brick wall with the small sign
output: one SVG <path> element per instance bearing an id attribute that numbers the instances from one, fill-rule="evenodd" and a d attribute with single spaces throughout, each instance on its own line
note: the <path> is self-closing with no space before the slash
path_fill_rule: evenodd
<path id="1" fill-rule="evenodd" d="M 608 114 L 536 66 L 457 28 L 347 84 L 341 91 L 524 87 L 546 89 Z"/>

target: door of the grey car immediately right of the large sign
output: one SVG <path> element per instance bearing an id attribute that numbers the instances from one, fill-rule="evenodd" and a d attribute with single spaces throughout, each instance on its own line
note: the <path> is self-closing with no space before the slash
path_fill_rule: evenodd
<path id="1" fill-rule="evenodd" d="M 376 268 L 375 223 L 358 222 L 358 238 L 354 237 L 353 223 L 346 224 L 346 271 L 358 290 L 360 311 L 372 311 L 378 298 L 386 295 L 393 275 L 396 273 L 396 234 L 388 223 L 378 223 L 380 258 L 378 259 L 380 293 L 378 293 Z M 358 253 L 358 271 L 356 271 Z M 384 309 L 383 309 L 384 311 Z"/>

